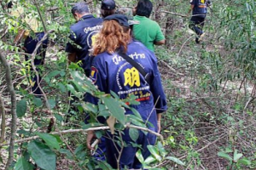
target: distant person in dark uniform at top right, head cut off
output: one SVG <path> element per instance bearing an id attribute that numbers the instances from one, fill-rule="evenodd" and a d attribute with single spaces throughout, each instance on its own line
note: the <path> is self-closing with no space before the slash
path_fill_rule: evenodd
<path id="1" fill-rule="evenodd" d="M 195 42 L 199 43 L 202 37 L 205 36 L 204 31 L 202 31 L 205 24 L 205 19 L 207 17 L 207 7 L 211 5 L 209 0 L 190 0 L 189 13 L 192 11 L 192 17 L 189 21 L 189 28 L 195 31 L 197 37 L 195 37 Z"/>

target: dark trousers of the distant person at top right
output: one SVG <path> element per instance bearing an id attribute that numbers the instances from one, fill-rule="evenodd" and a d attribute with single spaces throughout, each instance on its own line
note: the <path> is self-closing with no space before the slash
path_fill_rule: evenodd
<path id="1" fill-rule="evenodd" d="M 201 36 L 203 33 L 202 29 L 205 24 L 205 19 L 205 17 L 192 16 L 189 21 L 189 28 L 195 31 L 198 36 Z"/>

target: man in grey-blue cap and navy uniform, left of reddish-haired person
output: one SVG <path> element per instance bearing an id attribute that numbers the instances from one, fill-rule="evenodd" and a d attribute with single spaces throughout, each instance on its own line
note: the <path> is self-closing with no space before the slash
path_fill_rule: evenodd
<path id="1" fill-rule="evenodd" d="M 90 14 L 86 3 L 75 3 L 71 10 L 77 23 L 70 27 L 70 42 L 67 43 L 66 52 L 71 62 L 82 61 L 86 76 L 90 75 L 90 48 L 96 39 L 96 33 L 102 28 L 102 19 Z"/>

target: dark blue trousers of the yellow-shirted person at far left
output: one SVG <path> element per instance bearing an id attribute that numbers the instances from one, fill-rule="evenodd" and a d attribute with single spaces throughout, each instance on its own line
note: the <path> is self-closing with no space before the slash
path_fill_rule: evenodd
<path id="1" fill-rule="evenodd" d="M 32 54 L 38 44 L 38 42 L 44 37 L 44 32 L 38 32 L 36 33 L 36 37 L 27 37 L 24 43 L 24 48 L 26 48 L 27 54 Z M 32 93 L 36 95 L 42 94 L 41 90 L 38 88 L 38 84 L 41 82 L 42 77 L 40 76 L 39 66 L 44 65 L 44 58 L 46 54 L 46 48 L 48 44 L 48 39 L 44 40 L 41 47 L 38 48 L 36 58 L 34 60 L 34 65 L 37 67 L 37 71 L 39 73 L 39 77 L 37 78 L 35 75 L 33 75 L 33 70 L 31 68 L 31 79 L 32 82 L 34 82 L 34 85 L 32 86 Z M 25 56 L 26 61 L 31 59 L 31 55 Z"/>

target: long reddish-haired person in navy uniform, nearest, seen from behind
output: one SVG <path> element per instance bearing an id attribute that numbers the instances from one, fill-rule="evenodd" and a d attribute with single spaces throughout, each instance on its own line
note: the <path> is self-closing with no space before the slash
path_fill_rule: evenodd
<path id="1" fill-rule="evenodd" d="M 150 130 L 160 133 L 161 113 L 166 111 L 167 106 L 157 59 L 154 53 L 148 50 L 142 42 L 133 41 L 130 32 L 131 29 L 125 15 L 113 14 L 104 19 L 102 31 L 100 31 L 93 48 L 95 57 L 91 65 L 90 79 L 100 91 L 106 94 L 113 91 L 119 95 L 120 99 L 126 99 L 131 94 L 136 95 L 140 104 L 131 105 L 131 107 L 140 113 Z M 131 59 L 143 66 L 150 77 L 148 82 L 135 67 L 119 56 L 119 50 L 122 50 Z M 98 104 L 98 99 L 90 94 L 87 95 L 86 100 L 94 105 Z M 126 110 L 125 114 L 133 113 Z M 118 144 L 113 143 L 112 137 L 115 136 L 112 136 L 111 133 L 107 132 L 106 136 L 110 137 L 106 138 L 107 161 L 113 168 L 117 168 L 119 152 L 115 146 Z M 88 132 L 87 147 L 90 150 L 93 150 L 90 144 L 94 138 L 94 132 Z M 125 146 L 120 156 L 120 168 L 140 169 L 142 164 L 136 157 L 138 147 L 131 145 L 133 141 L 129 135 L 129 129 L 123 131 L 122 139 L 127 146 Z M 156 136 L 154 134 L 145 134 L 139 131 L 139 138 L 136 143 L 141 144 L 144 159 L 150 155 L 147 145 L 155 144 L 155 141 Z"/>

